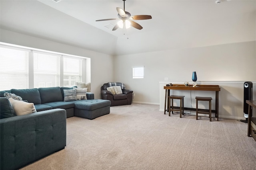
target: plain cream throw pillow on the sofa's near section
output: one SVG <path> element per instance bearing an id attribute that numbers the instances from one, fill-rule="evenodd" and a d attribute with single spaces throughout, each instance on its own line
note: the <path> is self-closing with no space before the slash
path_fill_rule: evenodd
<path id="1" fill-rule="evenodd" d="M 14 100 L 13 98 L 9 98 L 9 101 L 11 102 L 17 116 L 36 113 L 36 108 L 33 103 Z"/>

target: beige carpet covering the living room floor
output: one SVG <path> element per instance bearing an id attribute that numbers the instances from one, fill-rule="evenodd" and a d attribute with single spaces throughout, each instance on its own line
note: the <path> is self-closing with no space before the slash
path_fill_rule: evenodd
<path id="1" fill-rule="evenodd" d="M 215 119 L 214 119 L 215 120 Z M 256 141 L 234 119 L 179 113 L 158 105 L 110 108 L 67 119 L 67 146 L 23 170 L 256 170 Z"/>

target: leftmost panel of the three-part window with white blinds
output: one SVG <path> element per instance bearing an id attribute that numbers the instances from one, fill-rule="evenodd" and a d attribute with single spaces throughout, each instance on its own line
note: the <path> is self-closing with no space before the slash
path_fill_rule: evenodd
<path id="1" fill-rule="evenodd" d="M 29 51 L 0 46 L 0 90 L 28 88 Z"/>

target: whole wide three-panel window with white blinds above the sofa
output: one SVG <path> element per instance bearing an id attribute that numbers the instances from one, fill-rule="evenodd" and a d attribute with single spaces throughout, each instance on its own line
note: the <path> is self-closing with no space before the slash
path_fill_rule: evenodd
<path id="1" fill-rule="evenodd" d="M 90 82 L 90 59 L 86 57 L 0 42 L 0 63 L 0 90 L 71 87 L 74 82 Z"/>

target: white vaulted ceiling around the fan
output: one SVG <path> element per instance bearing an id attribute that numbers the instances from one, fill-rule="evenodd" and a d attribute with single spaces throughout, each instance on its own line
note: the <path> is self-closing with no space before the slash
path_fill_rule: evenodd
<path id="1" fill-rule="evenodd" d="M 126 0 L 143 29 L 117 29 L 122 0 L 1 0 L 2 29 L 110 55 L 255 41 L 256 1 Z"/>

